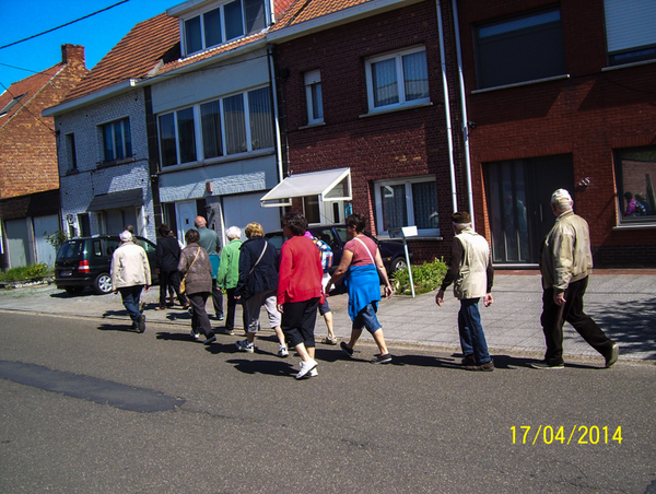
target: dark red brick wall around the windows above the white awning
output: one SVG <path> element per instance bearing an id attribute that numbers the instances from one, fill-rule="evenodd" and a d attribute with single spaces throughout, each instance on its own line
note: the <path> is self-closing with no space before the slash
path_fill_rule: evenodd
<path id="1" fill-rule="evenodd" d="M 426 50 L 431 105 L 367 114 L 366 58 L 420 45 Z M 414 261 L 448 256 L 452 190 L 435 3 L 421 2 L 281 43 L 278 60 L 289 70 L 281 80 L 289 170 L 350 167 L 353 211 L 368 215 L 373 233 L 375 180 L 435 175 L 444 239 L 414 239 L 410 247 Z M 304 73 L 317 69 L 324 125 L 305 127 Z"/>

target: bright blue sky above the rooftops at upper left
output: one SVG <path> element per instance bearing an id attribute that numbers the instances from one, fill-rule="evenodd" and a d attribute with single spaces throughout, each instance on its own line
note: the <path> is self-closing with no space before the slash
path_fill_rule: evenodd
<path id="1" fill-rule="evenodd" d="M 0 46 L 106 9 L 120 0 L 0 0 Z M 138 22 L 183 0 L 128 0 L 83 21 L 0 49 L 0 83 L 9 87 L 61 61 L 61 45 L 83 45 L 92 69 Z M 11 67 L 7 67 L 11 66 Z M 21 70 L 23 69 L 23 70 Z M 0 93 L 4 91 L 0 86 Z"/>

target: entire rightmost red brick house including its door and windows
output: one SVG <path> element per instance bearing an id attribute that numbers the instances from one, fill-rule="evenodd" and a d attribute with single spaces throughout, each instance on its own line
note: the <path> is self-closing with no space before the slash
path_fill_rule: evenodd
<path id="1" fill-rule="evenodd" d="M 494 262 L 537 264 L 564 187 L 595 266 L 656 267 L 656 3 L 457 5 L 475 212 Z M 645 214 L 625 215 L 626 193 Z"/>

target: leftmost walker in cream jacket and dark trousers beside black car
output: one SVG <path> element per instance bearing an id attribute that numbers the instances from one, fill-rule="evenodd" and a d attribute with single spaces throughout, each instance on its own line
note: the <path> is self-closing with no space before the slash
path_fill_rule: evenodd
<path id="1" fill-rule="evenodd" d="M 124 306 L 132 319 L 132 329 L 145 331 L 145 316 L 140 307 L 141 290 L 151 284 L 150 264 L 143 247 L 132 242 L 127 230 L 120 235 L 120 246 L 112 256 L 112 287 L 120 292 Z"/>

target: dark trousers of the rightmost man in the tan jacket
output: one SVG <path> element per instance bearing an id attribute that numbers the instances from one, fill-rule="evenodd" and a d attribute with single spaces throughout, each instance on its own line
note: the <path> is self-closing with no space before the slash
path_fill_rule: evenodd
<path id="1" fill-rule="evenodd" d="M 544 360 L 550 365 L 563 363 L 563 325 L 570 322 L 583 339 L 605 357 L 612 350 L 610 340 L 597 322 L 583 311 L 583 296 L 588 284 L 588 277 L 570 283 L 565 290 L 565 305 L 560 306 L 553 302 L 553 289 L 544 290 L 542 294 L 542 331 L 547 352 Z"/>

